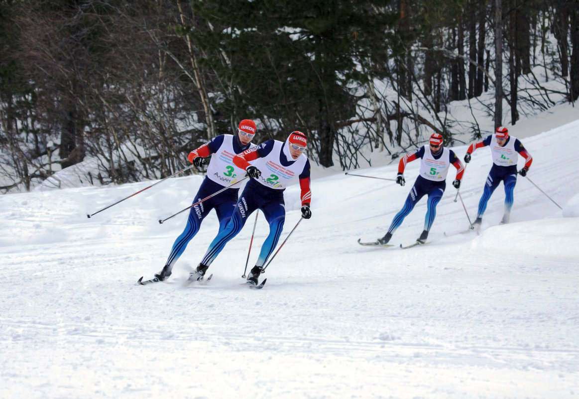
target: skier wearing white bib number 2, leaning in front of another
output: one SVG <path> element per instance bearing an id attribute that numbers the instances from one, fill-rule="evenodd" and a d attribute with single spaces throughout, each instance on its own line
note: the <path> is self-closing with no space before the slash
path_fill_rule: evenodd
<path id="1" fill-rule="evenodd" d="M 296 177 L 301 187 L 302 218 L 312 217 L 310 162 L 303 153 L 306 145 L 305 134 L 294 131 L 285 142 L 268 140 L 233 158 L 235 165 L 247 171 L 251 180 L 245 185 L 231 220 L 212 241 L 197 269 L 190 273 L 189 280 L 201 279 L 225 244 L 241 231 L 250 214 L 260 209 L 269 224 L 269 235 L 262 244 L 254 268 L 247 276 L 248 282 L 257 285 L 263 265 L 276 247 L 284 226 L 284 190 Z"/>

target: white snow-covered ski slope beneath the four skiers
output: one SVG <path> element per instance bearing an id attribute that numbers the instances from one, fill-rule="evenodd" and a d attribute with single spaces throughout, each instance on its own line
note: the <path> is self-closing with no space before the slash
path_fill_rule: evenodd
<path id="1" fill-rule="evenodd" d="M 162 268 L 186 213 L 157 220 L 189 206 L 200 176 L 90 219 L 152 182 L 1 196 L 0 398 L 579 397 L 579 120 L 528 126 L 545 133 L 522 140 L 527 177 L 563 210 L 519 177 L 511 224 L 498 225 L 501 185 L 481 235 L 445 236 L 468 228 L 451 168 L 430 244 L 361 247 L 359 237 L 384 235 L 419 162 L 404 187 L 327 175 L 312 181 L 313 217 L 261 291 L 239 285 L 253 217 L 211 265 L 211 283 L 182 288 L 217 232 L 214 214 L 168 282 L 134 285 Z M 454 149 L 462 157 L 466 146 Z M 490 166 L 479 149 L 464 175 L 471 219 Z M 298 197 L 287 189 L 282 240 Z M 423 199 L 393 243 L 413 243 L 425 213 Z M 250 267 L 266 235 L 260 215 Z"/>

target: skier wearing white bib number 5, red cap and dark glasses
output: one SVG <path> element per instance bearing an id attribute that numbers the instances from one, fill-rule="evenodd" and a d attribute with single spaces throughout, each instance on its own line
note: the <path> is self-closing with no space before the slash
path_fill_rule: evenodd
<path id="1" fill-rule="evenodd" d="M 464 167 L 457 158 L 452 149 L 442 147 L 442 136 L 438 133 L 433 133 L 430 136 L 429 145 L 417 148 L 414 152 L 407 153 L 398 163 L 398 175 L 396 182 L 401 186 L 404 185 L 404 168 L 406 163 L 412 162 L 420 158 L 420 171 L 416 178 L 414 185 L 404 207 L 398 212 L 384 237 L 378 239 L 381 245 L 387 244 L 396 229 L 402 224 L 406 215 L 411 213 L 417 202 L 424 196 L 428 195 L 428 210 L 426 211 L 426 219 L 424 220 L 424 230 L 420 237 L 416 240 L 419 244 L 426 243 L 428 232 L 433 225 L 436 216 L 436 206 L 440 201 L 442 194 L 446 188 L 446 174 L 450 164 L 456 168 L 456 178 L 452 185 L 456 189 L 460 187 L 460 180 L 463 177 Z"/>

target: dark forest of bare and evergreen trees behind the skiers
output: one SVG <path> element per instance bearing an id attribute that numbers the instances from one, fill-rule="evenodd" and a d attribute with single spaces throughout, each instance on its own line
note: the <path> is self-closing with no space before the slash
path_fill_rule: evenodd
<path id="1" fill-rule="evenodd" d="M 0 44 L 2 193 L 167 177 L 245 118 L 355 169 L 492 133 L 453 101 L 496 127 L 579 96 L 579 0 L 0 0 Z"/>

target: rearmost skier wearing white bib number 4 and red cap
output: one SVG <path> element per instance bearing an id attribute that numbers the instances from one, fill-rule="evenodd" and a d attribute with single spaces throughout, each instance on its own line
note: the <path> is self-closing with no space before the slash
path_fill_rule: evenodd
<path id="1" fill-rule="evenodd" d="M 489 202 L 494 189 L 497 188 L 501 181 L 503 181 L 505 186 L 505 210 L 501 224 L 509 222 L 513 202 L 513 191 L 516 184 L 516 162 L 519 159 L 518 153 L 525 157 L 525 166 L 523 166 L 523 168 L 518 172 L 521 176 L 527 174 L 531 163 L 533 163 L 533 157 L 525 147 L 523 147 L 521 141 L 516 137 L 509 136 L 508 129 L 503 126 L 497 127 L 494 134 L 487 136 L 484 140 L 471 144 L 464 156 L 464 162 L 470 162 L 471 154 L 475 149 L 486 147 L 487 145 L 490 146 L 490 153 L 493 156 L 493 167 L 490 168 L 489 175 L 485 182 L 485 189 L 483 190 L 481 200 L 478 203 L 477 218 L 473 223 L 475 226 L 481 225 L 482 215 L 486 210 L 486 204 Z"/>

